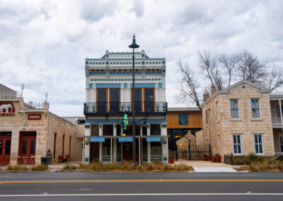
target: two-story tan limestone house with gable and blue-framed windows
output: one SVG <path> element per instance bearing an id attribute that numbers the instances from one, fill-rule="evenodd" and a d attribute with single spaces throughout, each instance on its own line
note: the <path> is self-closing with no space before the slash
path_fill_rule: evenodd
<path id="1" fill-rule="evenodd" d="M 212 95 L 204 94 L 203 135 L 197 137 L 210 144 L 212 155 L 221 154 L 222 160 L 224 154 L 253 152 L 273 156 L 281 142 L 279 105 L 283 96 L 272 96 L 271 92 L 249 81 L 240 81 L 221 91 L 212 86 Z"/>

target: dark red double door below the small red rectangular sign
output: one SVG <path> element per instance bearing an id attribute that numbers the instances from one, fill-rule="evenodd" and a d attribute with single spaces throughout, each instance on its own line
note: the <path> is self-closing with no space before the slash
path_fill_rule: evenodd
<path id="1" fill-rule="evenodd" d="M 21 132 L 20 147 L 18 155 L 21 156 L 19 163 L 21 165 L 35 164 L 35 144 L 36 132 Z"/>

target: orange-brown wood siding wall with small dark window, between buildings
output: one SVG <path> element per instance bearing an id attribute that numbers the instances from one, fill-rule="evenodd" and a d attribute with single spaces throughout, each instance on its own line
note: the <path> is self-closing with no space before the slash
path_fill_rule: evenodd
<path id="1" fill-rule="evenodd" d="M 179 125 L 179 114 L 187 114 L 187 125 Z M 167 128 L 202 128 L 202 112 L 168 112 Z"/>

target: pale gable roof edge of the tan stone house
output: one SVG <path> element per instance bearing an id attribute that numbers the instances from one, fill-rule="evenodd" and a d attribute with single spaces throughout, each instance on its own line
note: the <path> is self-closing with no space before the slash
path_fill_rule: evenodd
<path id="1" fill-rule="evenodd" d="M 216 96 L 218 96 L 219 94 L 228 94 L 230 93 L 230 91 L 233 91 L 234 89 L 240 87 L 240 86 L 248 86 L 250 88 L 253 88 L 257 91 L 260 91 L 260 93 L 271 93 L 272 90 L 265 88 L 264 86 L 260 86 L 258 84 L 254 84 L 250 81 L 246 81 L 246 80 L 242 80 L 242 81 L 238 81 L 236 84 L 233 84 L 227 88 L 224 88 L 223 90 L 220 91 L 215 91 L 212 96 L 209 96 L 209 98 L 207 98 L 207 100 L 205 100 L 200 107 L 202 108 L 204 106 L 205 103 L 209 103 L 210 101 L 212 101 L 213 98 L 215 98 Z"/>

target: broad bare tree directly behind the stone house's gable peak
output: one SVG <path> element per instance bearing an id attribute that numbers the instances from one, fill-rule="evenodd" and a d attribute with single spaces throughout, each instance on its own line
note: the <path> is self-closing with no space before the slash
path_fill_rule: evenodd
<path id="1" fill-rule="evenodd" d="M 242 79 L 255 84 L 265 85 L 267 67 L 252 52 L 238 54 L 238 74 Z"/>

